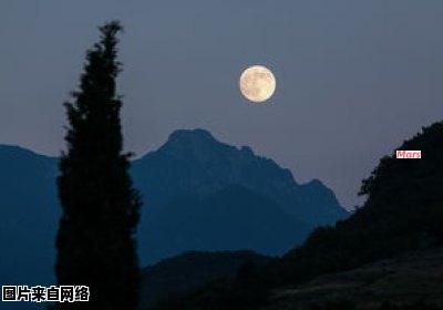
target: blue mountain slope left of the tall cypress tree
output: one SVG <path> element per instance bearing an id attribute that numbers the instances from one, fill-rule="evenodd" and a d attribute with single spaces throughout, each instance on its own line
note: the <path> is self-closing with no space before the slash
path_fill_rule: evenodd
<path id="1" fill-rule="evenodd" d="M 18 146 L 0 145 L 0 282 L 55 283 L 54 239 L 60 208 L 56 159 Z M 44 304 L 2 302 L 1 309 L 45 309 Z"/>

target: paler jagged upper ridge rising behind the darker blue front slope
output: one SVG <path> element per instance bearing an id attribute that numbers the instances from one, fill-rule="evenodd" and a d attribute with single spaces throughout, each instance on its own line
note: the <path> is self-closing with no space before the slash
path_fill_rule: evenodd
<path id="1" fill-rule="evenodd" d="M 320 180 L 298 184 L 289 169 L 255 155 L 248 146 L 220 143 L 205 130 L 175 131 L 162 147 L 134 163 L 133 176 L 154 209 L 182 194 L 204 196 L 238 184 L 276 200 L 285 211 L 313 226 L 347 215 Z"/>

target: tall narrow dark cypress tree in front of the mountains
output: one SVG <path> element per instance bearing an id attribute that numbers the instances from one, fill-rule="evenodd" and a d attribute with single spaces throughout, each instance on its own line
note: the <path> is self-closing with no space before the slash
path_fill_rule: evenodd
<path id="1" fill-rule="evenodd" d="M 58 178 L 62 216 L 56 237 L 60 286 L 89 286 L 89 302 L 60 302 L 55 309 L 135 309 L 138 260 L 134 238 L 141 199 L 122 152 L 121 97 L 115 80 L 122 30 L 113 21 L 86 53 L 80 90 L 65 103 L 68 149 Z"/>

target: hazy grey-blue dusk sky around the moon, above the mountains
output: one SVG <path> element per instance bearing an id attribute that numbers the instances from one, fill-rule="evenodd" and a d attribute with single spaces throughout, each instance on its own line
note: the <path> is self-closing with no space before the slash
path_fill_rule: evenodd
<path id="1" fill-rule="evenodd" d="M 125 147 L 204 127 L 352 206 L 379 158 L 443 115 L 441 0 L 0 1 L 0 144 L 55 155 L 96 27 L 120 19 Z M 237 82 L 272 69 L 254 105 Z M 423 154 L 423 156 L 426 156 Z"/>

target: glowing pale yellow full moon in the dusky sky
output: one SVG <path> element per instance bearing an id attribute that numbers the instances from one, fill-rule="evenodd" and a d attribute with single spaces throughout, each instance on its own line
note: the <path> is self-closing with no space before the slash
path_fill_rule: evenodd
<path id="1" fill-rule="evenodd" d="M 239 86 L 247 100 L 260 103 L 272 96 L 276 91 L 276 78 L 266 66 L 253 65 L 241 73 Z"/>

